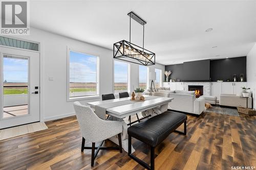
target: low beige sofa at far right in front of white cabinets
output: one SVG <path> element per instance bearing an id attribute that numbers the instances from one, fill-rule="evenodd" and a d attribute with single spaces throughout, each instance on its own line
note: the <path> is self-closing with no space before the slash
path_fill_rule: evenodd
<path id="1" fill-rule="evenodd" d="M 231 107 L 246 107 L 246 98 L 236 94 L 221 94 L 220 103 L 221 106 L 231 106 Z M 248 98 L 248 108 L 252 106 L 252 98 Z"/>

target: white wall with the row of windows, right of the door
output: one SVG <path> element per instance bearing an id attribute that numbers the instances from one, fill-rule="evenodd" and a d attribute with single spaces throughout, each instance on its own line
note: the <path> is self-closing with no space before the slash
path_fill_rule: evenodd
<path id="1" fill-rule="evenodd" d="M 86 33 L 84 33 L 86 34 Z M 74 114 L 73 102 L 67 102 L 67 46 L 81 49 L 87 54 L 99 56 L 100 77 L 99 92 L 101 94 L 113 92 L 113 52 L 112 50 L 81 42 L 71 38 L 59 36 L 46 31 L 31 28 L 29 36 L 17 36 L 17 38 L 40 42 L 42 87 L 41 95 L 44 96 L 41 105 L 41 120 L 52 120 Z M 164 65 L 156 64 L 150 69 L 160 68 L 164 71 Z M 131 63 L 131 90 L 139 87 L 139 65 Z M 54 81 L 48 78 L 53 77 Z M 99 99 L 84 100 L 81 103 L 97 101 Z"/>

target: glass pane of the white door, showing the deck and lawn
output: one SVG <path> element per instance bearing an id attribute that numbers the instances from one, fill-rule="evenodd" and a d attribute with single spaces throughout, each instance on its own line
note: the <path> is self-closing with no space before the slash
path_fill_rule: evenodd
<path id="1" fill-rule="evenodd" d="M 29 114 L 28 66 L 28 58 L 3 57 L 3 118 Z"/>

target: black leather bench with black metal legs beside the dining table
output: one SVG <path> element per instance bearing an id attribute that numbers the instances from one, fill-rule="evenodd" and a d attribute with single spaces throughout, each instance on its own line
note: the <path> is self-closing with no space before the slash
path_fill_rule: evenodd
<path id="1" fill-rule="evenodd" d="M 186 120 L 187 116 L 183 113 L 177 113 L 173 111 L 166 111 L 162 114 L 156 115 L 152 118 L 133 125 L 127 129 L 128 132 L 128 155 L 144 166 L 146 169 L 155 168 L 155 147 L 161 143 L 170 133 L 176 131 L 176 129 L 184 123 L 184 132 L 179 132 L 186 135 Z M 132 137 L 150 145 L 151 147 L 151 165 L 148 165 L 144 161 L 140 160 L 136 156 L 132 155 Z"/>

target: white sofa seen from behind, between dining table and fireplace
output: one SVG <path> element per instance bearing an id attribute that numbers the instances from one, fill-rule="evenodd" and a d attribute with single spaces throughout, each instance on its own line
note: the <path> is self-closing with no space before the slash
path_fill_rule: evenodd
<path id="1" fill-rule="evenodd" d="M 196 98 L 195 91 L 175 90 L 175 93 L 169 93 L 169 98 L 174 98 L 169 109 L 197 115 L 205 110 L 205 99 Z"/>

